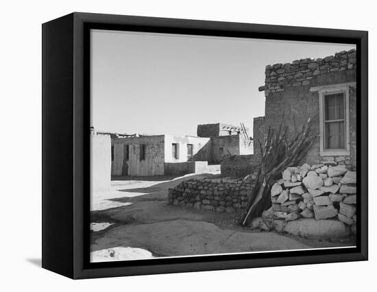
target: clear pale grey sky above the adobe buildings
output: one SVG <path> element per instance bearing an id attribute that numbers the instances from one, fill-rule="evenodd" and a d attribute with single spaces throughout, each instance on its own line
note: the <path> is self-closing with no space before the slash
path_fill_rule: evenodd
<path id="1" fill-rule="evenodd" d="M 91 126 L 196 135 L 203 123 L 264 116 L 267 64 L 324 58 L 355 45 L 92 30 Z"/>

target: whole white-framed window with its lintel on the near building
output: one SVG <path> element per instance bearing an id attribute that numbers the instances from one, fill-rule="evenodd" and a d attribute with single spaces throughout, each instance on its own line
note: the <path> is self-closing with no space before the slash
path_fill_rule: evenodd
<path id="1" fill-rule="evenodd" d="M 350 86 L 356 82 L 310 88 L 319 97 L 319 155 L 350 155 Z"/>

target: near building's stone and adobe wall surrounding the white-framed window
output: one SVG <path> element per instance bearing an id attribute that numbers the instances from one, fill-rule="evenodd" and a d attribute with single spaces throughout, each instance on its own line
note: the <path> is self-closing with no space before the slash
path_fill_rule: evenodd
<path id="1" fill-rule="evenodd" d="M 319 111 L 319 94 L 309 88 L 332 84 L 356 82 L 356 51 L 341 51 L 335 56 L 302 59 L 287 64 L 266 66 L 265 129 L 277 128 L 280 123 L 289 127 L 289 135 L 302 129 L 309 117 Z M 319 121 L 313 127 L 319 134 Z M 322 160 L 356 167 L 356 88 L 350 88 L 350 156 L 319 156 L 319 137 L 308 151 L 304 162 Z"/>

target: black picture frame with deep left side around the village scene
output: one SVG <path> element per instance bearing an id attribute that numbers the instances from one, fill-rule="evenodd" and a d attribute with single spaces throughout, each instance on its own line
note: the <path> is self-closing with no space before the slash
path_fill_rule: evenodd
<path id="1" fill-rule="evenodd" d="M 356 247 L 89 263 L 90 29 L 356 44 Z M 42 267 L 74 279 L 367 260 L 368 34 L 75 12 L 42 25 Z"/>

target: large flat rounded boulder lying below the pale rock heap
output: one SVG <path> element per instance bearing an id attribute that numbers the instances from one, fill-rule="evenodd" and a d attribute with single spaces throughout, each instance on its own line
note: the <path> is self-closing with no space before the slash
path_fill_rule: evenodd
<path id="1" fill-rule="evenodd" d="M 326 208 L 326 207 L 325 207 Z M 284 227 L 284 232 L 295 236 L 339 238 L 348 236 L 349 230 L 344 223 L 338 220 L 315 220 L 300 218 L 289 221 Z"/>

